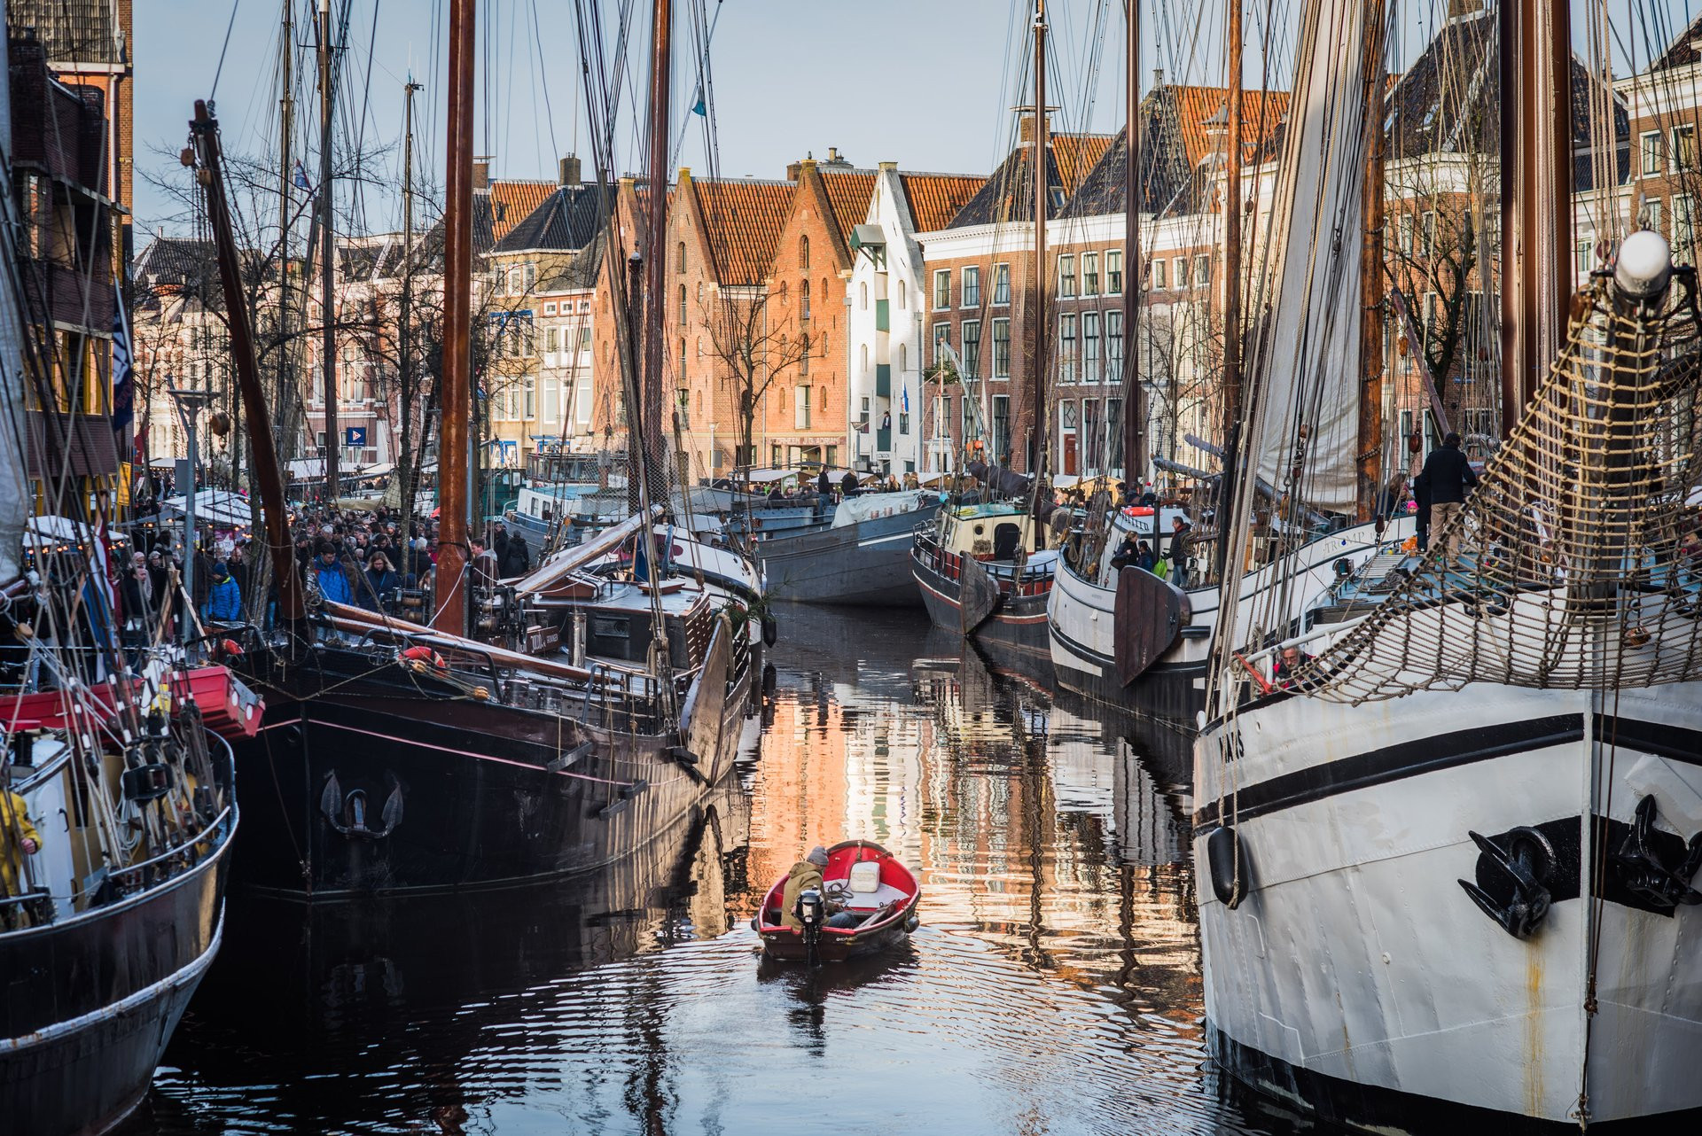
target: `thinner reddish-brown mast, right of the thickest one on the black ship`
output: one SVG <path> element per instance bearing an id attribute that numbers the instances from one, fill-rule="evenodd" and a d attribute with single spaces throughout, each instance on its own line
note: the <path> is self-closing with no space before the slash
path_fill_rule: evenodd
<path id="1" fill-rule="evenodd" d="M 645 340 L 643 340 L 643 384 L 638 410 L 638 430 L 643 444 L 643 480 L 648 486 L 650 500 L 667 497 L 667 483 L 662 473 L 662 344 L 667 335 L 667 141 L 669 141 L 669 78 L 672 70 L 672 5 L 669 0 L 655 0 L 655 15 L 650 27 L 650 206 L 647 209 L 648 231 L 645 250 L 647 287 L 645 287 Z"/>

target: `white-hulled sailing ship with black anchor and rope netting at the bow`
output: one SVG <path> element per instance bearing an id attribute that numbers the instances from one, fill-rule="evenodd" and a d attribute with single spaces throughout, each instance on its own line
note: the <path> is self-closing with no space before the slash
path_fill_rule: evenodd
<path id="1" fill-rule="evenodd" d="M 1370 9 L 1319 5 L 1299 53 L 1283 175 L 1317 179 L 1319 235 L 1358 228 Z M 1513 58 L 1540 60 L 1516 31 Z M 1339 49 L 1309 51 L 1321 34 Z M 1530 201 L 1540 163 L 1518 165 Z M 1503 253 L 1527 303 L 1535 224 L 1506 235 L 1530 264 Z M 1345 401 L 1334 369 L 1271 357 L 1351 350 L 1351 318 L 1295 321 L 1328 296 L 1324 241 L 1299 236 L 1246 415 L 1259 456 L 1317 440 L 1319 408 Z M 1334 279 L 1353 294 L 1351 270 Z M 1511 374 L 1532 374 L 1535 330 L 1503 318 Z M 1516 427 L 1428 553 L 1358 565 L 1287 636 L 1268 600 L 1248 626 L 1270 631 L 1217 643 L 1193 816 L 1214 1051 L 1360 1129 L 1653 1131 L 1702 1107 L 1702 580 L 1678 546 L 1702 483 L 1695 277 L 1636 233 L 1569 327 L 1547 318 L 1552 367 L 1528 405 L 1505 401 Z M 1285 485 L 1328 485 L 1343 452 L 1314 447 Z M 1244 524 L 1251 471 L 1236 493 Z"/>

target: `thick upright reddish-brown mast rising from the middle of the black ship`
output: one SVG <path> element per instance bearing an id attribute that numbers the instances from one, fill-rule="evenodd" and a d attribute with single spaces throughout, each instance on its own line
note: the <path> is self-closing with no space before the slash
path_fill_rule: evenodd
<path id="1" fill-rule="evenodd" d="M 466 406 L 471 398 L 473 289 L 473 3 L 449 0 L 449 139 L 443 209 L 443 425 L 437 430 L 437 612 L 432 626 L 466 633 Z"/>

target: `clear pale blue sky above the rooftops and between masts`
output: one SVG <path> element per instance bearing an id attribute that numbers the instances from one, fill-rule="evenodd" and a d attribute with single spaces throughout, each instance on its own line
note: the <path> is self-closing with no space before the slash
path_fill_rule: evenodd
<path id="1" fill-rule="evenodd" d="M 587 7 L 592 0 L 587 0 Z M 613 19 L 618 3 L 596 0 Z M 788 162 L 829 146 L 858 165 L 882 160 L 904 168 L 985 173 L 1008 151 L 1009 107 L 1026 95 L 1026 27 L 1031 0 L 700 0 L 717 19 L 711 80 L 723 175 L 781 177 Z M 1648 58 L 1649 41 L 1683 27 L 1693 0 L 1610 0 L 1615 54 Z M 214 90 L 226 150 L 271 155 L 276 148 L 277 37 L 284 0 L 153 0 L 136 5 L 136 221 L 138 243 L 165 228 L 182 231 L 179 207 L 146 184 L 145 172 L 177 172 L 175 151 L 194 99 Z M 342 0 L 334 0 L 334 9 Z M 1404 26 L 1397 53 L 1411 58 L 1428 37 L 1445 0 L 1401 0 Z M 306 19 L 315 0 L 294 0 Z M 555 158 L 589 148 L 579 44 L 572 0 L 480 0 L 478 148 L 494 155 L 494 172 L 507 177 L 553 177 Z M 637 0 L 648 31 L 648 3 Z M 1275 5 L 1294 12 L 1299 3 Z M 1581 10 L 1581 5 L 1578 5 Z M 1656 22 L 1625 19 L 1627 9 L 1663 10 Z M 1048 0 L 1054 27 L 1050 102 L 1062 107 L 1065 129 L 1122 126 L 1123 24 L 1120 0 Z M 1179 82 L 1220 82 L 1219 27 L 1222 0 L 1152 3 L 1144 0 L 1145 60 Z M 344 136 L 359 134 L 373 153 L 369 189 L 361 192 L 366 226 L 397 224 L 398 156 L 381 153 L 402 134 L 402 83 L 412 73 L 419 94 L 419 162 L 427 180 L 443 165 L 444 0 L 354 0 L 346 66 Z M 1205 12 L 1202 17 L 1200 12 Z M 1258 14 L 1248 5 L 1248 82 L 1263 70 Z M 696 85 L 691 36 L 693 0 L 676 0 L 676 131 Z M 235 14 L 235 20 L 233 20 Z M 1648 17 L 1644 17 L 1648 20 Z M 228 48 L 223 48 L 231 27 Z M 1096 43 L 1099 27 L 1103 44 Z M 1583 49 L 1583 31 L 1576 29 Z M 1287 39 L 1287 36 L 1278 36 Z M 311 31 L 298 26 L 298 41 Z M 371 44 L 371 66 L 368 46 Z M 223 68 L 220 56 L 223 49 Z M 1273 54 L 1285 54 L 1283 51 Z M 311 56 L 298 56 L 310 60 Z M 1639 60 L 1641 61 L 1641 60 Z M 1287 85 L 1285 60 L 1273 60 L 1271 87 Z M 642 90 L 645 60 L 633 56 L 631 80 Z M 311 87 L 300 111 L 317 122 Z M 352 114 L 351 114 L 352 111 Z M 618 133 L 621 168 L 637 168 L 631 102 Z M 686 119 L 679 162 L 706 170 L 700 119 Z M 300 134 L 308 139 L 308 134 Z M 155 150 L 167 150 L 160 156 Z M 300 145 L 298 145 L 300 153 Z M 310 175 L 317 158 L 308 153 Z M 587 175 L 589 162 L 587 162 Z"/>

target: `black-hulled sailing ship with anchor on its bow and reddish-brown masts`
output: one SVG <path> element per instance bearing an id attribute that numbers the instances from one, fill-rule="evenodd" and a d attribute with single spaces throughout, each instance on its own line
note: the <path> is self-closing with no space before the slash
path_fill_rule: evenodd
<path id="1" fill-rule="evenodd" d="M 471 20 L 470 0 L 453 0 L 446 408 L 470 401 Z M 665 116 L 665 68 L 657 83 L 652 112 Z M 642 425 L 637 335 L 620 352 L 635 423 L 626 520 L 526 578 L 477 573 L 466 561 L 471 446 L 465 417 L 446 410 L 432 629 L 335 602 L 310 611 L 240 301 L 218 126 L 204 104 L 191 126 L 279 590 L 277 638 L 250 636 L 231 656 L 271 702 L 266 728 L 238 753 L 243 772 L 271 787 L 242 879 L 310 900 L 488 888 L 592 869 L 643 845 L 732 769 L 761 621 L 701 573 L 669 573 L 650 505 L 667 500 L 669 463 L 660 430 Z M 664 168 L 665 148 L 652 160 Z M 606 223 L 613 238 L 613 216 Z M 660 231 L 652 226 L 657 240 Z M 620 294 L 616 306 L 638 311 L 643 299 Z M 647 315 L 660 320 L 660 304 Z M 611 553 L 621 556 L 611 563 Z"/>

